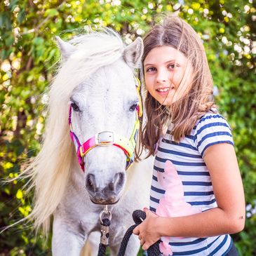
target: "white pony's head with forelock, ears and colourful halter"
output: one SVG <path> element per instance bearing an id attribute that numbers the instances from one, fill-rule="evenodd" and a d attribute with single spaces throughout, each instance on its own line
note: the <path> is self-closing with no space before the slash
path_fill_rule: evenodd
<path id="1" fill-rule="evenodd" d="M 73 156 L 79 156 L 91 201 L 116 203 L 126 184 L 138 116 L 133 69 L 140 63 L 142 40 L 124 46 L 114 32 L 105 32 L 70 42 L 58 38 L 58 45 L 63 58 L 58 76 L 67 72 L 62 79 L 68 77 L 63 83 L 69 86 L 65 109 L 76 145 Z"/>

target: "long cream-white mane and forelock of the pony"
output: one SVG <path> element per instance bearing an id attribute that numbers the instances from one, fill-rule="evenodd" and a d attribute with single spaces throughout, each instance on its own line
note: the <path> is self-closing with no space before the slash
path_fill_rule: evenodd
<path id="1" fill-rule="evenodd" d="M 41 151 L 21 175 L 32 180 L 29 189 L 34 188 L 34 208 L 29 218 L 36 230 L 43 227 L 44 234 L 48 234 L 50 217 L 62 200 L 74 159 L 77 161 L 68 125 L 72 90 L 99 67 L 121 58 L 124 50 L 121 37 L 111 29 L 79 35 L 69 43 L 76 50 L 60 65 L 50 86 Z"/>

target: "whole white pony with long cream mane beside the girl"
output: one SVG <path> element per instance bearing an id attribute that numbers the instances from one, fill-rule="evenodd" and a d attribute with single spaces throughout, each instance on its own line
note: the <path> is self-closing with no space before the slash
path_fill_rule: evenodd
<path id="1" fill-rule="evenodd" d="M 68 43 L 58 38 L 58 45 L 63 61 L 50 88 L 45 138 L 39 155 L 25 170 L 35 187 L 30 217 L 47 234 L 53 216 L 53 256 L 79 256 L 91 233 L 92 255 L 97 255 L 100 204 L 111 204 L 109 247 L 117 255 L 123 234 L 134 224 L 133 210 L 149 204 L 151 159 L 126 170 L 129 158 L 123 146 L 129 144 L 137 121 L 133 69 L 140 63 L 142 39 L 125 46 L 116 32 L 107 30 Z M 103 143 L 113 135 L 123 142 L 90 147 L 79 166 L 77 142 L 91 142 L 95 134 Z M 137 255 L 139 247 L 132 236 L 126 255 Z"/>

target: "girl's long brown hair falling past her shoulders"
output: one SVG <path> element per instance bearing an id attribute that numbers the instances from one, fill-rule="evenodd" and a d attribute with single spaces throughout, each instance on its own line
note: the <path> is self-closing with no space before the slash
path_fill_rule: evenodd
<path id="1" fill-rule="evenodd" d="M 193 80 L 189 88 L 186 88 L 186 93 L 170 107 L 161 105 L 146 92 L 144 109 L 147 114 L 147 123 L 140 134 L 140 142 L 142 147 L 148 149 L 148 156 L 154 155 L 156 143 L 163 135 L 164 127 L 170 122 L 173 123 L 171 133 L 173 140 L 179 142 L 182 137 L 191 133 L 198 118 L 214 105 L 213 79 L 203 43 L 194 29 L 174 15 L 165 18 L 162 25 L 155 25 L 144 37 L 142 80 L 144 80 L 144 60 L 153 48 L 159 46 L 171 46 L 180 50 L 192 65 Z"/>

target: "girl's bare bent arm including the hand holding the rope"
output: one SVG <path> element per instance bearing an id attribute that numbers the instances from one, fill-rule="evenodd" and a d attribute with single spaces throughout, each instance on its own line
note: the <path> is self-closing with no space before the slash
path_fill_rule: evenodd
<path id="1" fill-rule="evenodd" d="M 245 224 L 243 184 L 231 144 L 215 144 L 203 157 L 210 172 L 217 208 L 184 217 L 158 217 L 147 210 L 147 218 L 134 230 L 147 250 L 161 236 L 208 237 L 241 231 Z"/>

